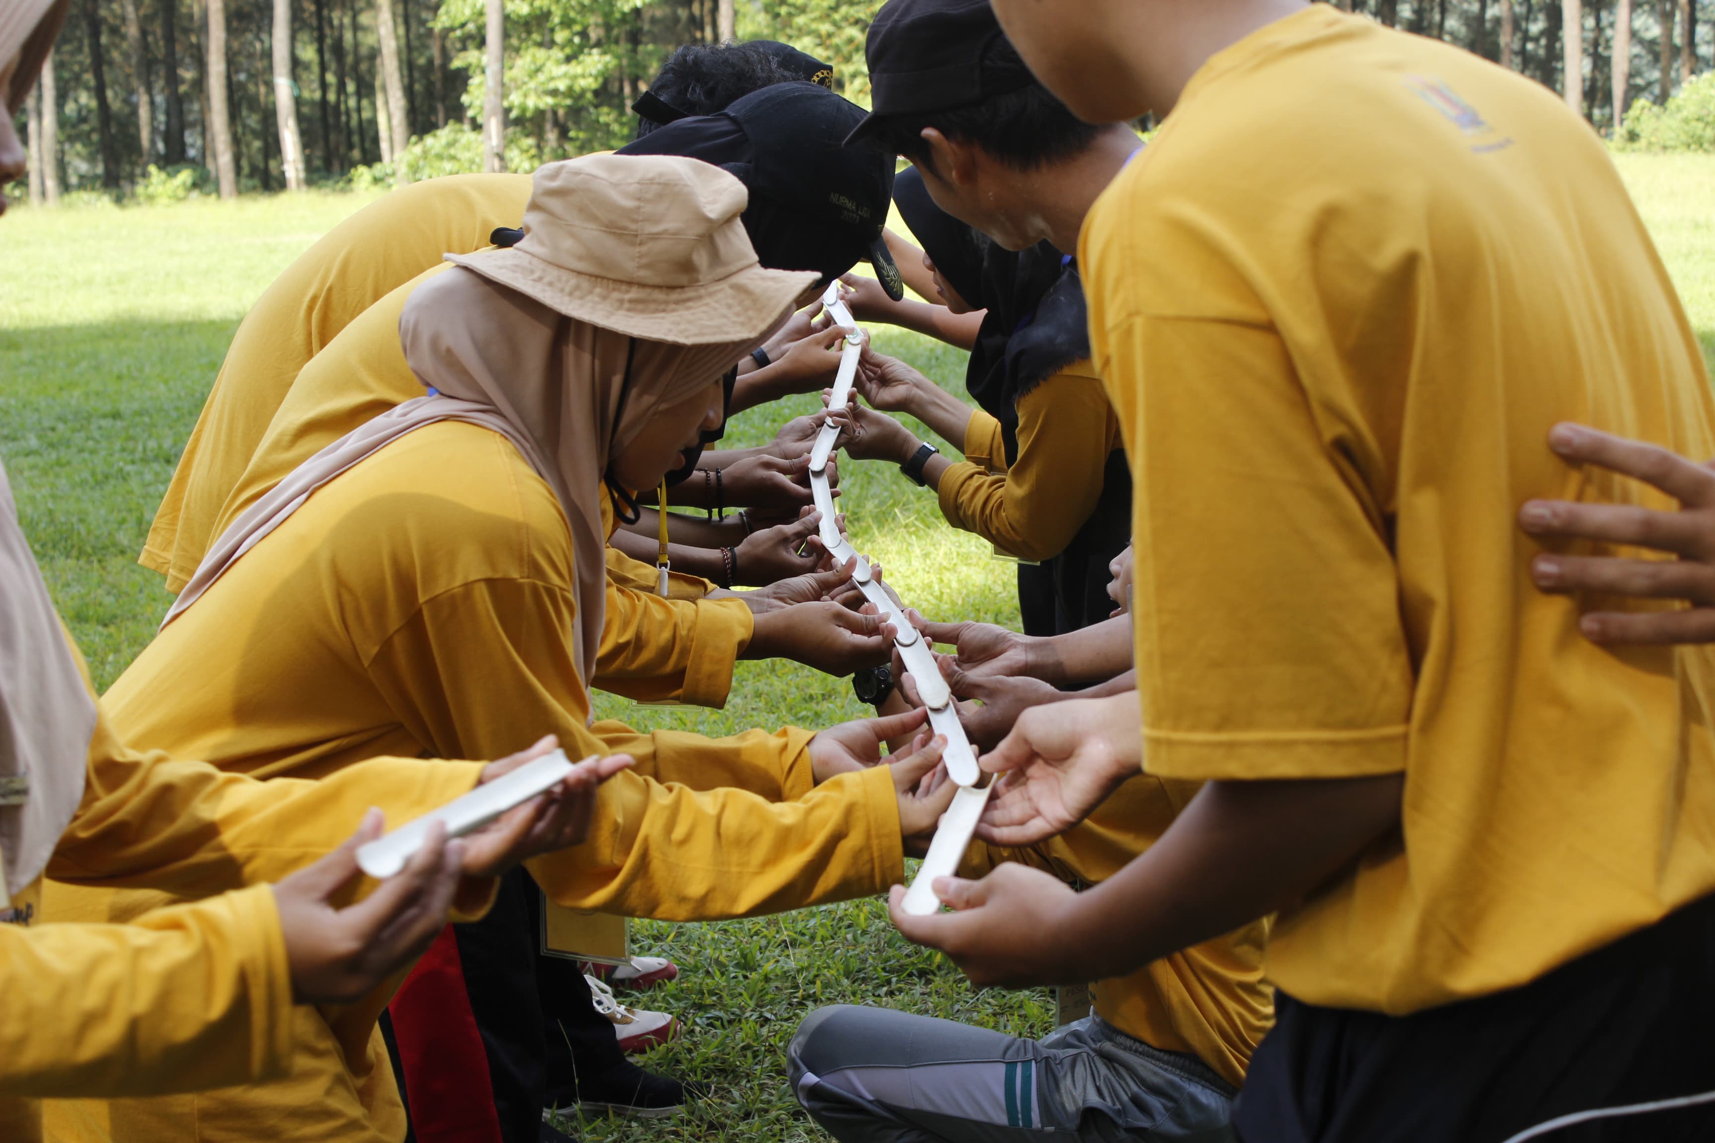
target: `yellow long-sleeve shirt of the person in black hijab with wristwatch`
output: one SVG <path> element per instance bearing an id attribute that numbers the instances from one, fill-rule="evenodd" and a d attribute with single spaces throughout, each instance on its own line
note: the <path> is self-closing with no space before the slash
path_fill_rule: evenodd
<path id="1" fill-rule="evenodd" d="M 971 415 L 966 459 L 942 473 L 942 514 L 1019 559 L 1053 559 L 1096 509 L 1103 468 L 1118 447 L 1120 422 L 1101 379 L 1087 360 L 1077 362 L 1019 398 L 1010 466 L 1000 422 Z"/>

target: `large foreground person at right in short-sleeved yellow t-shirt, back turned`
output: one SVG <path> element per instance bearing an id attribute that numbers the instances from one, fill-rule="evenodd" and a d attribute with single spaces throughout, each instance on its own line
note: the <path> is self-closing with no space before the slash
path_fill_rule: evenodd
<path id="1" fill-rule="evenodd" d="M 1089 893 L 1007 867 L 895 922 L 1022 982 L 1281 910 L 1247 1141 L 1706 1136 L 1715 663 L 1583 639 L 1514 531 L 1528 500 L 1655 504 L 1568 470 L 1557 422 L 1715 452 L 1600 141 L 1326 5 L 996 12 L 1084 118 L 1164 118 L 1080 242 L 1134 463 L 1140 704 L 1026 713 L 988 828 L 1051 831 L 1139 759 L 1206 785 Z"/>

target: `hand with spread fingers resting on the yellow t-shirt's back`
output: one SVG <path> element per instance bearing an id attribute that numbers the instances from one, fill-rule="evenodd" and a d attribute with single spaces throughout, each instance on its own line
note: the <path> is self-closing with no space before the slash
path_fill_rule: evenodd
<path id="1" fill-rule="evenodd" d="M 1631 545 L 1676 559 L 1542 552 L 1530 566 L 1542 591 L 1590 591 L 1634 600 L 1681 600 L 1679 610 L 1588 612 L 1580 629 L 1602 644 L 1715 643 L 1715 471 L 1667 449 L 1585 425 L 1556 425 L 1549 447 L 1571 464 L 1641 480 L 1679 500 L 1660 512 L 1636 504 L 1528 500 L 1519 528 L 1542 540 Z"/>

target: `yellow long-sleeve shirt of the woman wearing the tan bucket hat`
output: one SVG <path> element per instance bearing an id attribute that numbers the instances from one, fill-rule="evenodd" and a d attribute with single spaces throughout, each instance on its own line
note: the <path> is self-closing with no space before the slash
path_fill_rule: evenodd
<path id="1" fill-rule="evenodd" d="M 333 775 L 376 754 L 492 757 L 549 732 L 575 756 L 624 749 L 638 766 L 602 787 L 588 840 L 532 865 L 578 908 L 736 917 L 900 877 L 885 768 L 811 788 L 803 730 L 710 740 L 587 727 L 573 583 L 564 516 L 518 451 L 473 425 L 430 425 L 317 490 L 142 651 L 108 709 L 132 740 L 259 776 Z M 101 907 L 156 903 L 125 896 Z M 367 1033 L 374 1013 L 357 1016 Z M 305 1100 L 343 1066 L 340 1045 L 364 1059 L 358 1023 L 300 1042 L 288 1083 L 125 1117 L 163 1143 L 388 1138 L 367 1124 L 396 1104 L 391 1081 L 352 1109 Z M 379 1073 L 384 1056 L 370 1054 L 365 1074 Z"/>

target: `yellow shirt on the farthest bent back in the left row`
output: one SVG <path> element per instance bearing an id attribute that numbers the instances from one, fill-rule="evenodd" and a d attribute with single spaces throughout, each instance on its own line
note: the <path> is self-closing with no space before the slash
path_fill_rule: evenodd
<path id="1" fill-rule="evenodd" d="M 304 365 L 352 319 L 446 252 L 523 221 L 530 175 L 449 175 L 388 192 L 328 231 L 238 326 L 149 528 L 139 564 L 178 591 L 220 535 L 214 519 Z"/>

